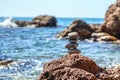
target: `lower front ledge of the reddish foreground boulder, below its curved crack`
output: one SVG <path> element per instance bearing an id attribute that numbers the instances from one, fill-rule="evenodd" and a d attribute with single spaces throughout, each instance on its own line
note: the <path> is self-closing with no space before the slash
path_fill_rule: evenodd
<path id="1" fill-rule="evenodd" d="M 65 67 L 55 70 L 53 73 L 42 73 L 38 80 L 97 80 L 95 76 L 87 71 L 77 68 Z"/>

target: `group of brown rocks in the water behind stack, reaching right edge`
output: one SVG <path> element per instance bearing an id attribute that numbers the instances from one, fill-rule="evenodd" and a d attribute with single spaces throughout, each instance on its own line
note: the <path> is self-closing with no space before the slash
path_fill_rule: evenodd
<path id="1" fill-rule="evenodd" d="M 79 39 L 120 43 L 120 0 L 108 8 L 103 24 L 87 24 L 82 20 L 74 20 L 65 30 L 57 34 L 64 38 L 70 32 L 78 32 Z"/>

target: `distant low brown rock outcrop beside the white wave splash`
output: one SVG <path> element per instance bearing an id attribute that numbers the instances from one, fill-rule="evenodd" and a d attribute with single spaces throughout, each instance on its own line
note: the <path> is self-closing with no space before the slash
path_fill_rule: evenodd
<path id="1" fill-rule="evenodd" d="M 57 20 L 54 16 L 48 16 L 48 15 L 40 15 L 35 18 L 31 22 L 29 21 L 15 21 L 15 23 L 19 27 L 52 27 L 57 26 Z"/>

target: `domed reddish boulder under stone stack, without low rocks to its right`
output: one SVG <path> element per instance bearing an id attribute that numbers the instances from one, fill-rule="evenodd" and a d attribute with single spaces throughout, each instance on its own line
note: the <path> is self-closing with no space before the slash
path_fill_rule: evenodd
<path id="1" fill-rule="evenodd" d="M 38 80 L 96 80 L 99 67 L 88 57 L 80 54 L 63 56 L 44 65 Z"/>

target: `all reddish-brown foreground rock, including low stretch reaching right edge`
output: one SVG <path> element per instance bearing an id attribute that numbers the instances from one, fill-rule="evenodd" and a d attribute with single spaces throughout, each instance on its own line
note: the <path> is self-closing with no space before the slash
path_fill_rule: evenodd
<path id="1" fill-rule="evenodd" d="M 81 54 L 46 63 L 38 80 L 120 80 L 120 66 L 104 69 Z"/>

